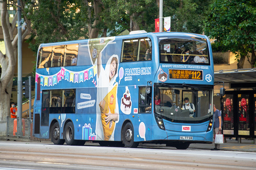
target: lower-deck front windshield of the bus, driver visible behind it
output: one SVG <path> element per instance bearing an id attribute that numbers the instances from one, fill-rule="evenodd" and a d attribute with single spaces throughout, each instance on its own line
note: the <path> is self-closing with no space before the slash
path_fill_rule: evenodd
<path id="1" fill-rule="evenodd" d="M 172 122 L 203 121 L 211 116 L 212 90 L 193 86 L 155 87 L 155 113 Z"/>

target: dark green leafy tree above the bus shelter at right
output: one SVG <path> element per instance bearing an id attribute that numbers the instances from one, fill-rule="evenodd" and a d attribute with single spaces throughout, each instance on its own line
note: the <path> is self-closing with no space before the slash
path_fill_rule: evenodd
<path id="1" fill-rule="evenodd" d="M 254 0 L 215 0 L 205 22 L 205 33 L 217 39 L 217 46 L 225 46 L 236 54 L 237 68 L 245 59 L 256 66 L 256 2 Z M 249 54 L 251 53 L 251 60 Z"/>

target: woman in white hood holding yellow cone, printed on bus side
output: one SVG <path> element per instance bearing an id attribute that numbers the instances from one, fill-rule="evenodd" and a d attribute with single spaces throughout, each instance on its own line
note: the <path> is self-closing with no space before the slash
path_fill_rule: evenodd
<path id="1" fill-rule="evenodd" d="M 115 124 L 119 120 L 117 85 L 115 82 L 118 72 L 118 56 L 112 55 L 106 63 L 105 69 L 102 66 L 102 52 L 97 58 L 97 122 L 96 140 L 113 141 Z M 107 57 L 107 56 L 104 56 Z"/>

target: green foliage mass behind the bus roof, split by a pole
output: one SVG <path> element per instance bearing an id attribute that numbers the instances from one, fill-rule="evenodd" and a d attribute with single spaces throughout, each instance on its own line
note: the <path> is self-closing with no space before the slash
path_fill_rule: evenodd
<path id="1" fill-rule="evenodd" d="M 24 0 L 27 8 L 23 15 L 26 15 L 32 27 L 28 39 L 32 51 L 37 53 L 42 43 L 88 39 L 89 25 L 98 28 L 100 36 L 106 32 L 107 36 L 116 36 L 123 29 L 130 30 L 131 23 L 147 32 L 155 30 L 155 19 L 159 17 L 155 0 L 97 1 L 102 6 L 98 18 L 94 14 L 94 1 Z M 163 1 L 163 17 L 171 16 L 171 31 L 203 33 L 202 25 L 209 11 L 209 3 L 210 0 Z M 98 19 L 100 22 L 93 25 Z"/>

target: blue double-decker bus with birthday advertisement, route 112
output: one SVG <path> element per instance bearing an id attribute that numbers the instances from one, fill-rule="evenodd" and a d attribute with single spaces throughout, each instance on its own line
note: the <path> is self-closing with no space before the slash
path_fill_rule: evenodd
<path id="1" fill-rule="evenodd" d="M 41 44 L 33 135 L 56 145 L 212 143 L 213 72 L 208 37 L 193 33 Z"/>

